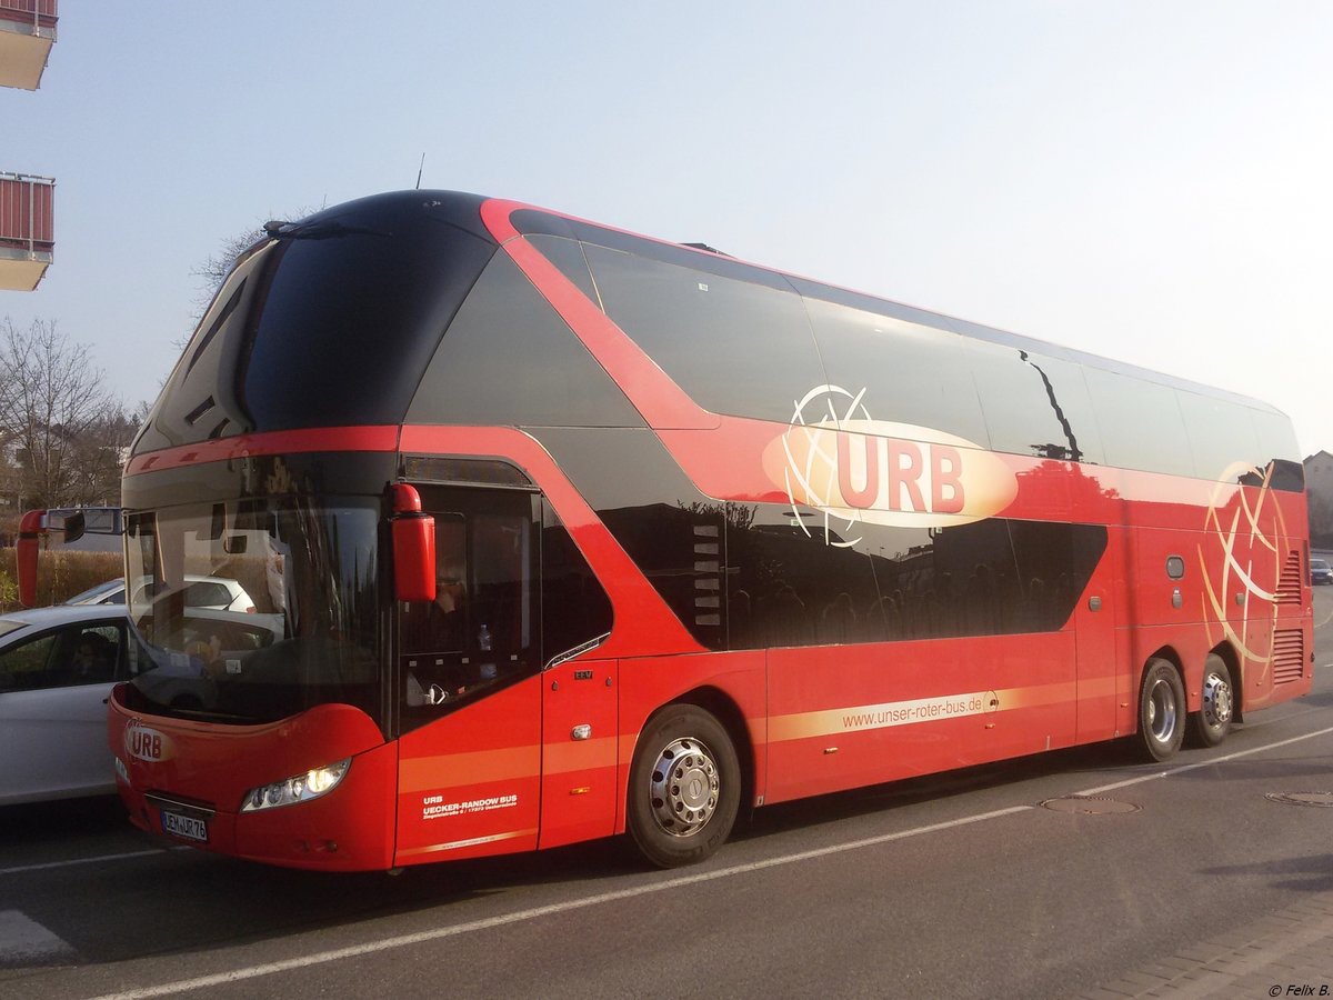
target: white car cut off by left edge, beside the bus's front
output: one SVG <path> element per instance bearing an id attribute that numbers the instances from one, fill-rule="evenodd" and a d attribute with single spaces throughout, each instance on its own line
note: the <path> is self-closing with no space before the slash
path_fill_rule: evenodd
<path id="1" fill-rule="evenodd" d="M 111 795 L 107 697 L 136 668 L 124 605 L 0 615 L 0 805 Z"/>

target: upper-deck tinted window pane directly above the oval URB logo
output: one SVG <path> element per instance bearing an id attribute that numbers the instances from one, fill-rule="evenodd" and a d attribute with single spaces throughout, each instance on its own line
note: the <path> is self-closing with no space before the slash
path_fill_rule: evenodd
<path id="1" fill-rule="evenodd" d="M 838 417 L 914 424 L 986 445 L 960 336 L 817 299 L 805 303 L 829 381 L 853 397 L 865 391 L 864 411 Z"/>

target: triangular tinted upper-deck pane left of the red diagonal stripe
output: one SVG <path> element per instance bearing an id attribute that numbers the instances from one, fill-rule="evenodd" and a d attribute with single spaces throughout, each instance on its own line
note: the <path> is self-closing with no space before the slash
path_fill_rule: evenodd
<path id="1" fill-rule="evenodd" d="M 643 424 L 611 376 L 505 255 L 487 265 L 449 324 L 408 421 Z"/>

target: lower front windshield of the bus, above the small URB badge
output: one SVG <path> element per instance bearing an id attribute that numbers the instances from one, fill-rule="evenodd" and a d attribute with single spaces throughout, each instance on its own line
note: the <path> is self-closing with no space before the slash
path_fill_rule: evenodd
<path id="1" fill-rule="evenodd" d="M 140 708 L 255 724 L 343 703 L 381 723 L 377 521 L 347 497 L 131 515 Z"/>

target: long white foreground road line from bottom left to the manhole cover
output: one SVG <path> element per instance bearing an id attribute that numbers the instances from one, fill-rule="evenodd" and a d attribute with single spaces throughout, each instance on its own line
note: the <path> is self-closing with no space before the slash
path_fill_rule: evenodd
<path id="1" fill-rule="evenodd" d="M 781 857 L 770 857 L 765 861 L 752 861 L 749 864 L 738 864 L 730 868 L 720 868 L 716 872 L 701 872 L 698 875 L 685 875 L 676 879 L 668 879 L 665 881 L 652 883 L 651 885 L 637 885 L 632 889 L 617 889 L 616 892 L 604 892 L 599 896 L 587 896 L 584 899 L 569 900 L 567 903 L 553 903 L 547 907 L 535 907 L 532 909 L 523 909 L 516 913 L 505 913 L 504 916 L 487 917 L 485 920 L 473 920 L 467 924 L 456 924 L 453 927 L 440 927 L 433 931 L 423 931 L 415 935 L 401 935 L 399 937 L 387 937 L 383 941 L 371 941 L 367 944 L 355 944 L 347 948 L 336 948 L 333 951 L 319 952 L 316 955 L 307 955 L 300 959 L 287 959 L 284 961 L 273 961 L 267 965 L 252 965 L 244 969 L 233 969 L 231 972 L 219 972 L 212 976 L 200 976 L 197 979 L 183 979 L 176 983 L 164 983 L 156 987 L 145 987 L 143 989 L 129 989 L 124 993 L 108 993 L 97 1000 L 140 1000 L 140 997 L 151 996 L 165 996 L 168 993 L 183 993 L 189 989 L 205 989 L 208 987 L 224 985 L 227 983 L 240 983 L 247 979 L 256 979 L 257 976 L 271 976 L 277 972 L 291 972 L 292 969 L 308 968 L 311 965 L 323 965 L 329 961 L 339 961 L 341 959 L 355 959 L 363 955 L 372 955 L 375 952 L 391 951 L 393 948 L 407 948 L 413 944 L 425 944 L 427 941 L 437 941 L 444 937 L 456 937 L 459 935 L 472 933 L 473 931 L 487 931 L 493 927 L 504 927 L 507 924 L 517 924 L 527 920 L 537 920 L 544 916 L 553 916 L 556 913 L 568 913 L 575 909 L 585 909 L 588 907 L 597 907 L 604 903 L 619 903 L 620 900 L 635 899 L 636 896 L 648 896 L 656 892 L 666 892 L 668 889 L 678 889 L 685 885 L 697 885 L 698 883 L 714 881 L 716 879 L 729 879 L 733 875 L 748 875 L 749 872 L 761 872 L 765 868 L 777 868 L 780 865 L 796 864 L 797 861 L 808 861 L 814 857 L 826 857 L 829 855 L 838 855 L 846 851 L 856 851 L 862 847 L 876 847 L 878 844 L 889 844 L 894 840 L 905 840 L 906 837 L 920 836 L 922 833 L 937 833 L 944 829 L 953 829 L 956 827 L 966 827 L 973 823 L 982 823 L 985 820 L 1000 819 L 1001 816 L 1013 816 L 1020 812 L 1029 812 L 1034 807 L 1032 805 L 1013 805 L 1008 809 L 996 809 L 994 812 L 984 812 L 977 816 L 965 816 L 958 820 L 949 820 L 948 823 L 934 823 L 929 827 L 917 827 L 914 829 L 904 829 L 897 833 L 884 833 L 876 837 L 866 837 L 865 840 L 853 840 L 846 844 L 834 844 L 832 847 L 821 847 L 813 851 L 801 851 L 794 855 L 784 855 Z"/>

